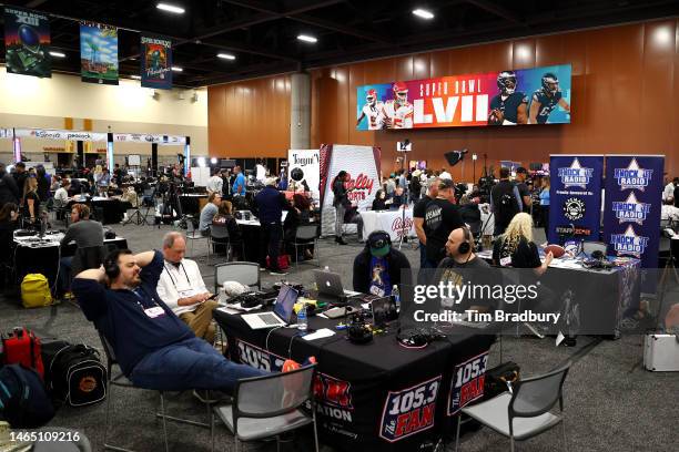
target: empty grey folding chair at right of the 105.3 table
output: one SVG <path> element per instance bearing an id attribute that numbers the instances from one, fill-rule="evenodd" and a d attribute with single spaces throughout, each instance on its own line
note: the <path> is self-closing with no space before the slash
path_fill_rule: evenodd
<path id="1" fill-rule="evenodd" d="M 566 443 L 566 425 L 564 423 L 563 388 L 570 362 L 566 366 L 514 383 L 510 392 L 503 392 L 490 400 L 462 409 L 464 414 L 509 438 L 509 448 L 514 452 L 514 442 L 524 441 L 561 424 L 564 451 Z M 559 413 L 550 410 L 559 402 Z M 455 436 L 455 452 L 459 443 L 459 425 Z M 549 448 L 554 450 L 554 448 Z"/>

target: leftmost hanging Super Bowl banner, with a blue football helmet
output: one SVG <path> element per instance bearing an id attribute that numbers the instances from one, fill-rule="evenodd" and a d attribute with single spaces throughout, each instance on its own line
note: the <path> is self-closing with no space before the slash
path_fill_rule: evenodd
<path id="1" fill-rule="evenodd" d="M 4 52 L 7 72 L 52 76 L 48 17 L 36 11 L 6 7 Z"/>

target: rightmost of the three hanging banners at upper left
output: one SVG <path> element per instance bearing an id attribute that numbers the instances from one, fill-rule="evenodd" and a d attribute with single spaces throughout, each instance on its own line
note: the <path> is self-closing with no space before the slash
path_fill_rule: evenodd
<path id="1" fill-rule="evenodd" d="M 172 90 L 172 41 L 161 37 L 141 37 L 142 86 Z"/>

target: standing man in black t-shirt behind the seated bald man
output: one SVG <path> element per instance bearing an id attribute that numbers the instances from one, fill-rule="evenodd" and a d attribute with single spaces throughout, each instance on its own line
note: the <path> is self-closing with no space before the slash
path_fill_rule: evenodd
<path id="1" fill-rule="evenodd" d="M 464 226 L 458 207 L 453 204 L 455 189 L 453 181 L 440 179 L 438 195 L 425 208 L 425 234 L 427 261 L 425 268 L 436 268 L 444 258 L 444 246 L 453 229 Z"/>

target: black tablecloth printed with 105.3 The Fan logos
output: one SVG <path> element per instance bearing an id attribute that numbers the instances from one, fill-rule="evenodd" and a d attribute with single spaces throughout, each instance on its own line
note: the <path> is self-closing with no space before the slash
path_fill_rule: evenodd
<path id="1" fill-rule="evenodd" d="M 278 371 L 287 357 L 301 362 L 315 356 L 321 441 L 352 452 L 433 450 L 439 435 L 450 431 L 460 401 L 464 407 L 483 396 L 495 340 L 457 327 L 447 340 L 413 350 L 396 341 L 395 331 L 359 346 L 344 331 L 305 341 L 296 329 L 255 331 L 240 316 L 217 310 L 214 318 L 226 331 L 233 361 Z M 335 330 L 337 322 L 311 318 L 310 328 Z"/>

